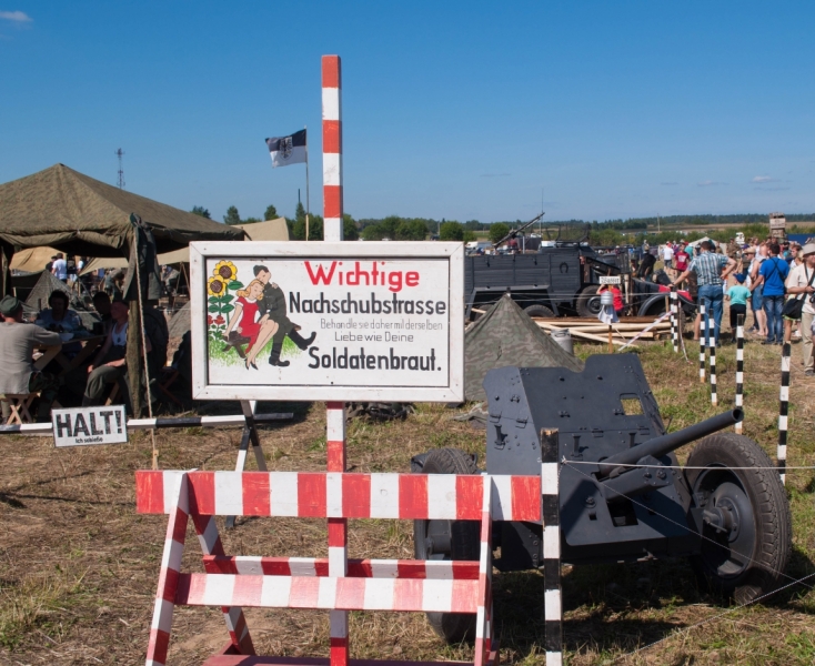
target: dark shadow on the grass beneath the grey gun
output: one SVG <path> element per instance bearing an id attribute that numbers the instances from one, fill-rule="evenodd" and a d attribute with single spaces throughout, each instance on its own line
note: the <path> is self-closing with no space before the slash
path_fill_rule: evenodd
<path id="1" fill-rule="evenodd" d="M 788 575 L 815 571 L 798 548 Z M 646 563 L 565 567 L 562 577 L 564 649 L 570 653 L 622 656 L 671 635 L 672 632 L 732 606 L 707 594 L 686 558 Z M 792 573 L 794 572 L 794 574 Z M 785 579 L 782 585 L 792 582 Z M 807 582 L 813 585 L 813 582 Z M 502 649 L 515 663 L 542 652 L 544 645 L 543 576 L 535 572 L 494 578 L 496 632 Z M 807 587 L 795 585 L 763 599 L 763 606 L 788 607 Z"/>

